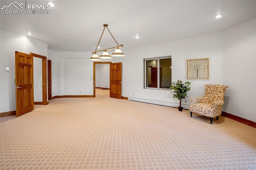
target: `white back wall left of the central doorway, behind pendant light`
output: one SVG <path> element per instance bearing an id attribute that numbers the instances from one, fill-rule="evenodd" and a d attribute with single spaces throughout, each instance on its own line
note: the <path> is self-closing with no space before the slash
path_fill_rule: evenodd
<path id="1" fill-rule="evenodd" d="M 54 95 L 93 95 L 93 61 L 90 57 L 91 52 L 55 52 L 54 74 L 59 83 L 54 87 Z"/>

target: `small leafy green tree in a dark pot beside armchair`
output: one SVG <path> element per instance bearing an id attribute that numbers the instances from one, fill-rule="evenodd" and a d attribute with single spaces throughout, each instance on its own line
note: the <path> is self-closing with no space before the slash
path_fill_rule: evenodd
<path id="1" fill-rule="evenodd" d="M 182 111 L 183 107 L 181 107 L 181 101 L 182 99 L 185 99 L 188 97 L 188 91 L 190 91 L 190 82 L 186 81 L 185 83 L 182 83 L 181 80 L 174 81 L 171 83 L 171 86 L 169 87 L 173 93 L 173 98 L 176 98 L 180 101 L 180 106 L 178 107 L 179 111 Z"/>

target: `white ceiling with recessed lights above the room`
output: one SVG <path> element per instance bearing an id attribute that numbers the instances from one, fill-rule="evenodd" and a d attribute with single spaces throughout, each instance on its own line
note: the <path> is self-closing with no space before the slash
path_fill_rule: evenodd
<path id="1" fill-rule="evenodd" d="M 11 1 L 0 1 L 0 7 Z M 47 0 L 17 0 L 47 4 Z M 49 14 L 1 14 L 0 28 L 53 51 L 94 51 L 103 24 L 124 49 L 221 32 L 256 16 L 256 0 L 54 0 Z M 11 7 L 10 7 L 11 8 Z M 10 9 L 9 8 L 9 9 Z M 214 18 L 222 14 L 222 18 Z M 136 39 L 135 36 L 140 36 Z M 105 30 L 101 49 L 116 43 Z"/>

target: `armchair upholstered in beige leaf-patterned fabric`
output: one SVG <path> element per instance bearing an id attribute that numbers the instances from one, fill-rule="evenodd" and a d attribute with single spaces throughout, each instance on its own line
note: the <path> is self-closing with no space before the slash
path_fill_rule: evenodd
<path id="1" fill-rule="evenodd" d="M 190 115 L 197 113 L 199 115 L 210 117 L 210 122 L 216 117 L 219 120 L 222 106 L 224 105 L 224 95 L 228 86 L 226 85 L 205 85 L 203 97 L 190 98 Z"/>

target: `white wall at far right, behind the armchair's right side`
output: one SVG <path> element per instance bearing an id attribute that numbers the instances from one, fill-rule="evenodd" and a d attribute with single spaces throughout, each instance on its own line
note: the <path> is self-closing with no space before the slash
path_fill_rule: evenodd
<path id="1" fill-rule="evenodd" d="M 223 111 L 256 122 L 256 18 L 224 32 Z"/>

